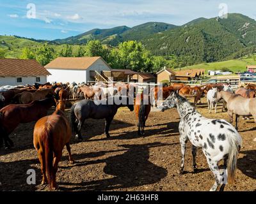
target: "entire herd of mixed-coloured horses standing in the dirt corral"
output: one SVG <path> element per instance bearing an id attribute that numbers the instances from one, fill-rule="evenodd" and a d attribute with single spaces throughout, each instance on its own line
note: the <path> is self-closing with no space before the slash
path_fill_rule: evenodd
<path id="1" fill-rule="evenodd" d="M 177 107 L 180 114 L 180 145 L 183 173 L 186 142 L 193 144 L 193 166 L 196 170 L 196 148 L 202 147 L 207 163 L 214 173 L 215 183 L 211 191 L 221 185 L 234 182 L 237 154 L 242 145 L 242 138 L 237 132 L 239 116 L 253 116 L 256 122 L 256 85 L 239 87 L 233 93 L 226 84 L 206 84 L 190 87 L 174 83 L 166 87 L 141 87 L 136 84 L 115 83 L 106 85 L 101 82 L 91 84 L 34 84 L 13 87 L 0 92 L 0 147 L 14 146 L 9 135 L 20 123 L 36 121 L 33 143 L 41 163 L 42 184 L 47 182 L 50 189 L 56 189 L 56 172 L 62 156 L 63 147 L 67 147 L 68 160 L 74 163 L 70 150 L 70 138 L 76 135 L 82 140 L 81 128 L 86 119 L 105 119 L 105 134 L 109 137 L 109 126 L 118 108 L 127 106 L 135 112 L 138 120 L 138 135 L 144 135 L 145 122 L 152 106 L 157 107 L 159 96 L 165 101 L 158 106 L 164 111 Z M 207 94 L 209 112 L 213 105 L 222 99 L 223 110 L 227 109 L 230 123 L 222 119 L 206 119 L 196 111 L 196 105 Z M 79 100 L 70 108 L 70 119 L 65 115 L 68 100 Z M 84 98 L 84 99 L 82 99 Z M 192 106 L 186 98 L 194 98 Z M 82 99 L 82 100 L 81 100 Z M 47 111 L 55 106 L 55 112 Z M 236 127 L 232 126 L 236 115 Z M 220 127 L 216 127 L 216 125 Z M 218 169 L 218 162 L 223 159 L 227 172 Z"/>

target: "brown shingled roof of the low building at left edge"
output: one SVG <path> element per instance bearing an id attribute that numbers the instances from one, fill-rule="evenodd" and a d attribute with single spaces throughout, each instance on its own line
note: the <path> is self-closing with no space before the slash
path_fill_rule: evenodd
<path id="1" fill-rule="evenodd" d="M 51 75 L 35 59 L 0 59 L 0 77 L 32 77 Z"/>

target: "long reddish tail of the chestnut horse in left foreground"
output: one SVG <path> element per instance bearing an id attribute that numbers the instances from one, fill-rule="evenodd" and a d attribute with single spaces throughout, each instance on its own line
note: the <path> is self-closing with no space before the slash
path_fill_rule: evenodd
<path id="1" fill-rule="evenodd" d="M 42 131 L 41 137 L 42 148 L 44 149 L 44 156 L 43 156 L 43 164 L 45 164 L 45 171 L 47 176 L 47 181 L 51 189 L 52 184 L 52 174 L 53 174 L 53 147 L 52 147 L 52 131 L 51 125 L 47 124 L 44 131 Z"/>

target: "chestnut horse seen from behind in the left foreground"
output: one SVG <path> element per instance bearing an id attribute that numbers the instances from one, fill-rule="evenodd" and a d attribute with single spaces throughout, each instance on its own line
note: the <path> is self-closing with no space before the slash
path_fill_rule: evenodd
<path id="1" fill-rule="evenodd" d="M 56 172 L 63 147 L 68 150 L 68 161 L 74 163 L 70 151 L 71 128 L 65 116 L 65 103 L 60 100 L 56 111 L 39 119 L 34 128 L 33 144 L 41 163 L 42 184 L 47 180 L 50 190 L 56 189 Z"/>

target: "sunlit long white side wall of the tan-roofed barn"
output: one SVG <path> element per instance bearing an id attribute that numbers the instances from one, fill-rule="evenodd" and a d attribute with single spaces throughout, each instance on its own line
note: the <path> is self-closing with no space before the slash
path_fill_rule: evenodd
<path id="1" fill-rule="evenodd" d="M 49 75 L 47 82 L 62 82 L 62 83 L 86 83 L 86 70 L 81 69 L 48 69 Z"/>

